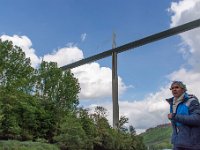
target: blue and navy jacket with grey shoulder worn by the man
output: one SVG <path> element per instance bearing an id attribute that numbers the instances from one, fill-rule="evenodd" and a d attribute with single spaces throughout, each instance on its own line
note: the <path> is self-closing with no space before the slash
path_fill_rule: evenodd
<path id="1" fill-rule="evenodd" d="M 173 99 L 166 99 L 170 104 L 170 113 L 173 113 Z M 172 144 L 176 147 L 200 150 L 200 104 L 195 96 L 185 93 L 176 113 L 173 113 L 171 122 Z"/>

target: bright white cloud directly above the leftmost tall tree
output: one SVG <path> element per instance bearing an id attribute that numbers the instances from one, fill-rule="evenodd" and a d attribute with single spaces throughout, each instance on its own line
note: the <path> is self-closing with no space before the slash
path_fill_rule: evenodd
<path id="1" fill-rule="evenodd" d="M 5 40 L 12 41 L 14 45 L 21 47 L 22 50 L 25 52 L 26 57 L 27 58 L 30 57 L 31 65 L 33 67 L 36 67 L 41 62 L 41 58 L 35 54 L 35 50 L 32 48 L 32 42 L 27 36 L 2 35 L 0 36 L 0 38 L 2 39 L 2 41 Z"/>

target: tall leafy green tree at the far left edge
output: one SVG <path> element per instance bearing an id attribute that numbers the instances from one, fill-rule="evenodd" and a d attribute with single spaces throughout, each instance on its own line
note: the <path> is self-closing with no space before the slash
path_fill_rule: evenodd
<path id="1" fill-rule="evenodd" d="M 22 49 L 9 41 L 0 40 L 0 64 L 0 134 L 14 138 L 21 132 L 15 107 L 22 95 L 32 92 L 34 69 Z"/>

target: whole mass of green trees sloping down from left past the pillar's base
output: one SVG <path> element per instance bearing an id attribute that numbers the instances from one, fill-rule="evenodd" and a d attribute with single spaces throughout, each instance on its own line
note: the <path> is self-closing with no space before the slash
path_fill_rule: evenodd
<path id="1" fill-rule="evenodd" d="M 33 141 L 60 149 L 145 150 L 135 128 L 121 116 L 117 129 L 107 110 L 79 106 L 80 85 L 56 62 L 31 66 L 20 47 L 0 40 L 0 140 Z"/>

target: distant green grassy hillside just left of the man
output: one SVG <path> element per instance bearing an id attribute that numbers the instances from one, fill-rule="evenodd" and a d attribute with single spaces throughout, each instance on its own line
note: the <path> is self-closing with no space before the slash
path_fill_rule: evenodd
<path id="1" fill-rule="evenodd" d="M 162 150 L 172 148 L 170 144 L 171 133 L 171 125 L 162 124 L 155 128 L 149 128 L 140 135 L 149 150 Z"/>

